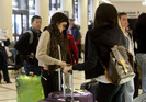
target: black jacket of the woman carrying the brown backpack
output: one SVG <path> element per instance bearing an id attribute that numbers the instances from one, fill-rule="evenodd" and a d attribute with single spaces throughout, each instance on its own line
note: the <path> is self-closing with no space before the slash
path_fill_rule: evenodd
<path id="1" fill-rule="evenodd" d="M 86 79 L 89 79 L 104 73 L 100 60 L 106 66 L 110 48 L 114 45 L 123 45 L 126 47 L 126 41 L 121 29 L 112 24 L 97 26 L 87 34 L 88 58 L 83 64 L 75 65 L 72 69 L 85 70 Z"/>

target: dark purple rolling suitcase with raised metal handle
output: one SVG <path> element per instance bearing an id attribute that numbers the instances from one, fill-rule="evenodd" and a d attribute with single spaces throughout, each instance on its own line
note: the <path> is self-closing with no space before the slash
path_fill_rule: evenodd
<path id="1" fill-rule="evenodd" d="M 69 101 L 66 100 L 66 102 L 93 102 L 93 97 L 90 92 L 88 92 L 88 91 L 75 91 L 74 92 L 72 71 L 69 71 L 69 75 L 70 75 L 69 76 L 70 91 L 69 90 L 67 91 L 65 89 L 65 73 L 63 72 L 63 92 L 60 92 L 60 91 L 59 92 L 52 92 L 48 94 L 48 98 L 49 99 L 59 99 L 59 98 L 69 99 Z M 60 78 L 59 78 L 59 80 L 60 80 Z"/>

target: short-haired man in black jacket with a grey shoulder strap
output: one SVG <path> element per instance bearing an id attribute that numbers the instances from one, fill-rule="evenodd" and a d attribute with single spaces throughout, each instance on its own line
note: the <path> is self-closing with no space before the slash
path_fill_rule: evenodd
<path id="1" fill-rule="evenodd" d="M 30 31 L 22 35 L 14 47 L 24 56 L 24 69 L 26 75 L 30 72 L 41 75 L 41 67 L 38 66 L 38 60 L 36 59 L 35 54 L 38 38 L 41 36 L 42 18 L 34 15 L 31 20 L 31 24 L 32 26 L 30 27 Z M 31 44 L 30 39 L 32 39 Z"/>

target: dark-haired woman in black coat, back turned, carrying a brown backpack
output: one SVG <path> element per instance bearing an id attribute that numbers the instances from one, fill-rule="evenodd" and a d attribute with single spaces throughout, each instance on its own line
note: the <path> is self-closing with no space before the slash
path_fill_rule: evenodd
<path id="1" fill-rule="evenodd" d="M 99 90 L 97 92 L 98 102 L 122 102 L 122 95 L 125 90 L 124 84 L 114 86 L 105 75 L 100 60 L 108 66 L 109 54 L 114 45 L 126 47 L 126 41 L 117 24 L 117 11 L 112 4 L 102 3 L 96 11 L 94 26 L 88 34 L 88 58 L 83 64 L 65 67 L 64 72 L 68 70 L 88 71 L 86 78 L 97 78 Z"/>

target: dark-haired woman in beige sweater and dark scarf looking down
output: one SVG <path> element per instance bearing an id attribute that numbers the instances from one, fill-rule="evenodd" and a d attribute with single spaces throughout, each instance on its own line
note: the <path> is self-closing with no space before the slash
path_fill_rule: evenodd
<path id="1" fill-rule="evenodd" d="M 68 18 L 64 13 L 55 13 L 50 19 L 50 24 L 42 33 L 38 41 L 36 58 L 38 59 L 40 66 L 43 67 L 41 81 L 45 98 L 50 92 L 58 91 L 57 68 L 58 66 L 63 68 L 66 66 L 66 31 L 68 25 Z"/>

